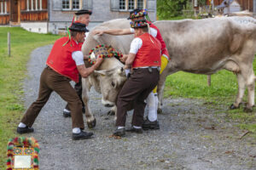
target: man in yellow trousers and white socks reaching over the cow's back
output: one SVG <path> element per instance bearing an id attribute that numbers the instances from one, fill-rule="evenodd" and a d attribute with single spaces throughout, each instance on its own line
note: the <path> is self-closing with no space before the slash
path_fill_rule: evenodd
<path id="1" fill-rule="evenodd" d="M 159 29 L 154 26 L 154 24 L 148 19 L 148 11 L 147 9 L 134 9 L 131 11 L 128 20 L 143 20 L 146 18 L 147 23 L 149 24 L 149 33 L 158 39 L 161 43 L 161 66 L 160 66 L 160 74 L 166 68 L 168 61 L 170 60 L 169 53 L 166 48 L 166 43 L 164 42 Z M 126 35 L 126 34 L 134 34 L 135 31 L 133 28 L 130 29 L 110 29 L 103 31 L 94 31 L 94 34 L 102 35 L 103 33 L 110 35 Z M 125 60 L 125 56 L 123 61 Z M 158 108 L 158 97 L 157 97 L 157 87 L 154 88 L 153 92 L 148 94 L 147 98 L 147 106 L 148 106 L 148 116 L 145 122 L 143 122 L 143 129 L 160 129 L 159 122 L 157 121 L 157 108 Z"/>

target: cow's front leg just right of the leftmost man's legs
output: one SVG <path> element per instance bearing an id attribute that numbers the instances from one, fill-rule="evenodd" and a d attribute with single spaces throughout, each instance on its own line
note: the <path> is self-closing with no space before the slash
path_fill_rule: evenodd
<path id="1" fill-rule="evenodd" d="M 96 126 L 96 118 L 93 116 L 93 114 L 90 111 L 90 105 L 89 105 L 89 91 L 90 91 L 90 82 L 85 79 L 82 78 L 82 99 L 84 101 L 84 105 L 85 105 L 85 117 L 86 117 L 86 122 L 87 122 L 87 126 L 92 128 Z"/>

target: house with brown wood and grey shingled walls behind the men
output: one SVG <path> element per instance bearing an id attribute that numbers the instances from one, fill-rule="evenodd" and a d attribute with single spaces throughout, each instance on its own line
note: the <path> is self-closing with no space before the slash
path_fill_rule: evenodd
<path id="1" fill-rule="evenodd" d="M 0 25 L 58 33 L 70 26 L 81 8 L 92 10 L 89 29 L 103 21 L 127 18 L 134 8 L 148 8 L 149 18 L 156 20 L 156 0 L 0 0 Z"/>

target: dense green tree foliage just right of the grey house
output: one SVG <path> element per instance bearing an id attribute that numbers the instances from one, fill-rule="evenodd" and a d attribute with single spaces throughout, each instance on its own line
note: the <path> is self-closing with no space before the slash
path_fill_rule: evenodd
<path id="1" fill-rule="evenodd" d="M 169 19 L 182 14 L 189 0 L 157 0 L 157 14 L 161 19 Z"/>

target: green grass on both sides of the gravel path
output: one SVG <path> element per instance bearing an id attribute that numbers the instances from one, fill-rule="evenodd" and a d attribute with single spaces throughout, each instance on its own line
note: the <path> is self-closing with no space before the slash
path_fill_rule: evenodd
<path id="1" fill-rule="evenodd" d="M 11 57 L 7 56 L 7 32 L 11 32 Z M 24 112 L 22 81 L 26 77 L 26 63 L 32 49 L 53 43 L 58 36 L 42 35 L 20 28 L 0 28 L 0 169 L 4 169 L 8 139 L 17 136 L 15 128 Z M 256 62 L 253 63 L 254 71 Z M 236 98 L 236 76 L 228 71 L 212 75 L 212 86 L 207 76 L 177 72 L 167 77 L 165 97 L 203 99 L 211 105 L 229 107 Z M 256 133 L 256 114 L 244 113 L 242 108 L 227 111 L 230 121 L 239 122 L 241 128 Z"/>

